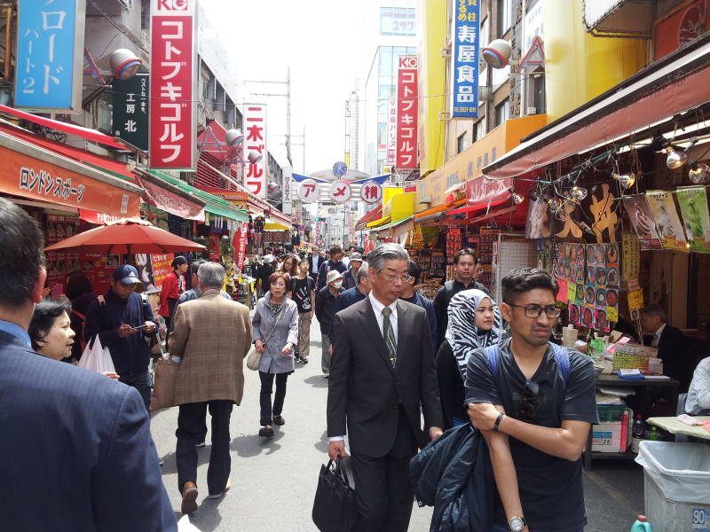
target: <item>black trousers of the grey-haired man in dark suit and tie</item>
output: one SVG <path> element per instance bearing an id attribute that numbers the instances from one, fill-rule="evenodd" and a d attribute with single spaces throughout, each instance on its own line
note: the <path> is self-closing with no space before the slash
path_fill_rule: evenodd
<path id="1" fill-rule="evenodd" d="M 406 532 L 414 504 L 409 460 L 415 454 L 414 435 L 400 406 L 397 436 L 390 452 L 383 458 L 352 455 L 358 530 Z"/>

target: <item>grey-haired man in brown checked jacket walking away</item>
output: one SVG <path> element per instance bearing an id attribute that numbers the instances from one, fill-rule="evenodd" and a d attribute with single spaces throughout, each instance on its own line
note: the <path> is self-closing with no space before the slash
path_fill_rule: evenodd
<path id="1" fill-rule="evenodd" d="M 251 346 L 251 320 L 247 307 L 220 294 L 225 269 L 205 262 L 197 271 L 203 287 L 199 299 L 177 307 L 175 329 L 170 334 L 170 356 L 181 359 L 175 386 L 177 416 L 177 487 L 182 512 L 197 509 L 197 450 L 205 430 L 209 407 L 212 417 L 212 451 L 209 454 L 209 498 L 221 497 L 231 487 L 229 473 L 229 419 L 233 403 L 244 392 L 242 362 Z"/>

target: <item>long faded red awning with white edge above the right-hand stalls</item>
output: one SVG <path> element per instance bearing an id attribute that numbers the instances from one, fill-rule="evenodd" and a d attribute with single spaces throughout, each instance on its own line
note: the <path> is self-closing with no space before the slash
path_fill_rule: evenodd
<path id="1" fill-rule="evenodd" d="M 705 104 L 710 33 L 643 68 L 616 87 L 526 137 L 486 166 L 492 177 L 515 177 L 606 145 Z"/>

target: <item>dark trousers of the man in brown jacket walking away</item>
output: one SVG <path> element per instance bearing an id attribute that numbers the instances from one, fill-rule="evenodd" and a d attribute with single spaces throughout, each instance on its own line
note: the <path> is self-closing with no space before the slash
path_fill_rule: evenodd
<path id="1" fill-rule="evenodd" d="M 222 493 L 225 490 L 232 458 L 229 456 L 229 419 L 232 416 L 233 402 L 227 400 L 207 401 L 204 403 L 186 403 L 180 405 L 177 414 L 177 489 L 182 493 L 185 482 L 197 483 L 197 450 L 195 443 L 204 440 L 205 416 L 209 408 L 212 418 L 212 449 L 209 452 L 207 469 L 207 488 L 209 494 Z"/>

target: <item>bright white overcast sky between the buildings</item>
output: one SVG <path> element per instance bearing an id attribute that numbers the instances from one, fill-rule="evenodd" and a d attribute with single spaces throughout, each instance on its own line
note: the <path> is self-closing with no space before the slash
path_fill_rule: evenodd
<path id="1" fill-rule="evenodd" d="M 361 24 L 364 12 L 376 24 L 373 0 L 201 0 L 210 22 L 222 35 L 241 80 L 285 80 L 291 66 L 291 134 L 306 128 L 309 173 L 343 160 L 345 100 L 356 77 L 367 75 L 363 64 L 375 53 Z M 284 92 L 285 85 L 248 83 L 252 92 Z M 283 143 L 286 98 L 266 101 L 268 143 Z M 294 137 L 293 143 L 300 143 Z M 285 153 L 285 151 L 283 152 Z M 294 171 L 303 173 L 300 146 L 293 146 Z M 285 157 L 281 161 L 287 163 Z"/>

